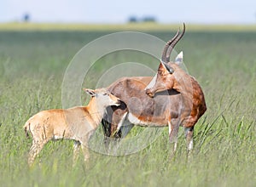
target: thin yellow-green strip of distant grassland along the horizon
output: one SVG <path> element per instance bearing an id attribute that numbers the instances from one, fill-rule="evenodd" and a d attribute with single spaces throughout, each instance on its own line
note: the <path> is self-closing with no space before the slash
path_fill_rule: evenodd
<path id="1" fill-rule="evenodd" d="M 38 23 L 0 23 L 0 31 L 177 31 L 178 24 L 131 23 L 117 25 L 99 24 L 38 24 Z M 256 31 L 255 25 L 187 25 L 187 31 Z"/>

